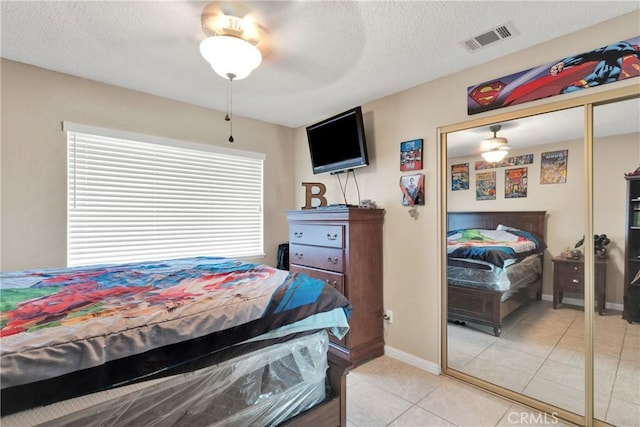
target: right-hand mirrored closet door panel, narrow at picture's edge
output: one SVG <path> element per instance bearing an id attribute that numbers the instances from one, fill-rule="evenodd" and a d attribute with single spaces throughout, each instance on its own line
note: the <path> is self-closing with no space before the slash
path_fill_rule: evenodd
<path id="1" fill-rule="evenodd" d="M 628 323 L 622 311 L 625 283 L 640 271 L 640 176 L 625 177 L 640 165 L 640 99 L 595 106 L 593 119 L 593 229 L 606 235 L 594 248 L 606 263 L 606 304 L 593 323 L 593 412 L 613 425 L 637 425 L 640 324 Z"/>

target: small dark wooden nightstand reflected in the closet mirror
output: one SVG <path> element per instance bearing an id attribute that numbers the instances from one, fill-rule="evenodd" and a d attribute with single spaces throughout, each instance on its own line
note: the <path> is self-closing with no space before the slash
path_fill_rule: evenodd
<path id="1" fill-rule="evenodd" d="M 562 304 L 565 292 L 584 297 L 584 259 L 553 258 L 553 308 Z M 607 291 L 607 261 L 595 259 L 595 288 L 598 314 L 604 314 Z"/>

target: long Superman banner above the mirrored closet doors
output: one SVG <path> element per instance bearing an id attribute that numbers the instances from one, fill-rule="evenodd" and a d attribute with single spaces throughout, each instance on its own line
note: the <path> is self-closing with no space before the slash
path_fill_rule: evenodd
<path id="1" fill-rule="evenodd" d="M 467 88 L 469 115 L 640 76 L 640 36 Z"/>

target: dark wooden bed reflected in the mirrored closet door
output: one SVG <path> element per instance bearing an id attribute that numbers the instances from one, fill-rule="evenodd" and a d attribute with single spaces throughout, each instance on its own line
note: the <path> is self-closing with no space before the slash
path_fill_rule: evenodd
<path id="1" fill-rule="evenodd" d="M 447 214 L 447 296 L 448 319 L 452 322 L 473 322 L 493 328 L 495 336 L 502 333 L 503 320 L 532 299 L 541 299 L 544 265 L 544 211 L 512 212 L 449 212 Z M 537 237 L 537 247 L 527 247 L 514 259 L 498 257 L 496 266 L 489 256 L 480 260 L 476 248 L 465 251 L 452 249 L 450 236 L 461 230 L 520 230 Z M 466 240 L 474 239 L 472 233 Z M 459 234 L 458 234 L 459 236 Z M 469 255 L 469 256 L 467 256 Z M 469 259 L 472 258 L 472 259 Z M 503 257 L 504 258 L 504 257 Z M 488 262 L 487 260 L 491 261 Z M 516 274 L 512 274 L 517 271 Z M 493 277 L 494 279 L 489 279 Z M 509 280 L 507 280 L 509 278 Z M 504 280 L 504 283 L 503 283 Z M 515 285 L 512 286 L 513 283 Z"/>

